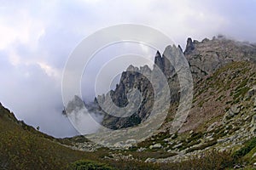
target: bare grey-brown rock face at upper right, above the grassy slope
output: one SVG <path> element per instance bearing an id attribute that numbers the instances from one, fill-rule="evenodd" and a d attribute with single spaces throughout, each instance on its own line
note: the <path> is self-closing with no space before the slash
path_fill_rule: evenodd
<path id="1" fill-rule="evenodd" d="M 202 42 L 192 42 L 189 38 L 184 54 L 194 78 L 205 77 L 233 61 L 256 60 L 256 48 L 253 45 L 224 37 L 204 39 Z"/>

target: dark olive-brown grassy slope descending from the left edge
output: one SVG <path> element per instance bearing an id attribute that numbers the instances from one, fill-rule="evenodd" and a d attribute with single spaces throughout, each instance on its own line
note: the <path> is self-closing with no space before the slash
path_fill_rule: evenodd
<path id="1" fill-rule="evenodd" d="M 71 150 L 20 124 L 0 106 L 0 169 L 67 169 L 70 162 L 95 159 L 90 153 Z"/>

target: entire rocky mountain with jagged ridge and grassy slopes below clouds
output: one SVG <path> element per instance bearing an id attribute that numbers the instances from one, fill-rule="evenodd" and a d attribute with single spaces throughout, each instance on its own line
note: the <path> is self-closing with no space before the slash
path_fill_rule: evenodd
<path id="1" fill-rule="evenodd" d="M 173 52 L 188 60 L 194 85 L 189 115 L 176 133 L 170 130 L 182 90 L 177 72 L 166 58 Z M 168 46 L 163 54 L 157 52 L 153 69 L 130 65 L 116 88 L 97 96 L 93 103 L 85 105 L 78 96 L 70 101 L 65 115 L 83 114 L 85 106 L 102 116 L 105 127 L 137 126 L 147 121 L 155 95 L 167 93 L 164 84 L 154 87 L 150 83 L 162 72 L 171 95 L 170 104 L 159 100 L 168 109 L 164 123 L 148 139 L 114 145 L 122 147 L 93 144 L 86 135 L 55 139 L 17 120 L 0 104 L 0 169 L 255 169 L 255 63 L 254 44 L 220 36 L 201 42 L 188 38 L 184 51 Z M 131 111 L 124 109 L 120 116 L 139 109 L 129 117 L 107 115 L 101 105 L 119 111 L 109 103 L 109 96 L 115 105 L 130 105 Z M 137 105 L 139 101 L 141 105 Z"/>

